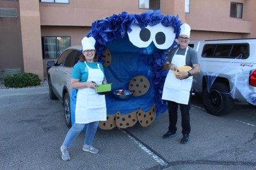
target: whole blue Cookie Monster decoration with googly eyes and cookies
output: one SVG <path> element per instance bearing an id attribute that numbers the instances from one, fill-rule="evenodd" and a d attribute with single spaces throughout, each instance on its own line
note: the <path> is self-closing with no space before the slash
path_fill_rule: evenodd
<path id="1" fill-rule="evenodd" d="M 178 19 L 178 15 L 164 16 L 156 10 L 140 15 L 122 12 L 93 22 L 87 36 L 95 38 L 99 62 L 112 83 L 111 94 L 106 95 L 108 118 L 100 121 L 99 128 L 127 128 L 136 123 L 147 127 L 167 110 L 166 101 L 161 100 L 168 73 L 163 64 L 168 50 L 177 45 Z M 116 91 L 132 96 L 120 100 Z"/>

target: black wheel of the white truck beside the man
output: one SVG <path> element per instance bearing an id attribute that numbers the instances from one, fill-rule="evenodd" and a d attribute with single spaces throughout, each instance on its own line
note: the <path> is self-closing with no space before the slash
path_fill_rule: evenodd
<path id="1" fill-rule="evenodd" d="M 230 112 L 234 107 L 234 100 L 228 93 L 228 86 L 223 83 L 216 82 L 212 84 L 210 92 L 206 87 L 203 92 L 205 109 L 215 116 Z"/>

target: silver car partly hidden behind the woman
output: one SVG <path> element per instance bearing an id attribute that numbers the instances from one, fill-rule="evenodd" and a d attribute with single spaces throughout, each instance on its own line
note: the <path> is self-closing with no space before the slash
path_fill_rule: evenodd
<path id="1" fill-rule="evenodd" d="M 63 104 L 65 123 L 67 127 L 72 126 L 70 114 L 70 96 L 71 96 L 71 73 L 73 66 L 79 61 L 81 56 L 82 46 L 72 46 L 65 49 L 56 63 L 48 61 L 48 84 L 49 97 L 59 99 Z"/>

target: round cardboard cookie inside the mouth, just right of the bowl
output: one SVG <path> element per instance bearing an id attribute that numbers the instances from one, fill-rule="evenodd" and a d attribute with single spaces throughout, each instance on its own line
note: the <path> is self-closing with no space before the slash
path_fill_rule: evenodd
<path id="1" fill-rule="evenodd" d="M 137 75 L 129 82 L 129 90 L 134 91 L 133 95 L 139 97 L 145 95 L 148 92 L 150 83 L 148 79 L 143 75 Z"/>

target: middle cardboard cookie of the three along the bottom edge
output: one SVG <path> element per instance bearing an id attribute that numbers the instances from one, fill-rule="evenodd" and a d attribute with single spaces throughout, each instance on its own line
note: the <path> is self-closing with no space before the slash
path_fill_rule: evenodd
<path id="1" fill-rule="evenodd" d="M 116 113 L 116 127 L 118 128 L 127 128 L 133 127 L 138 119 L 137 119 L 137 111 L 131 112 L 129 114 L 120 114 L 120 112 Z"/>

